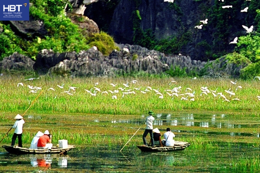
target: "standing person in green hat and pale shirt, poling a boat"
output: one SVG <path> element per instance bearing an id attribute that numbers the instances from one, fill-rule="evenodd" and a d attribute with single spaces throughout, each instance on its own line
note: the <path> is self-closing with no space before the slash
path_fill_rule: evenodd
<path id="1" fill-rule="evenodd" d="M 151 138 L 151 146 L 154 146 L 154 140 L 153 140 L 153 122 L 154 122 L 154 117 L 153 117 L 153 112 L 149 111 L 148 116 L 146 116 L 145 123 L 146 123 L 146 128 L 144 130 L 143 134 L 143 142 L 144 146 L 147 146 L 146 142 L 146 136 L 148 133 L 150 133 L 150 138 Z"/>

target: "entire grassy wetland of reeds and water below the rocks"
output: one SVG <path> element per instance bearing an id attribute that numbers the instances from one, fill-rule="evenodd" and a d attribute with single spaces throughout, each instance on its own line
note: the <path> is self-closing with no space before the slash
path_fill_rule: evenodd
<path id="1" fill-rule="evenodd" d="M 30 146 L 38 130 L 48 129 L 53 134 L 54 145 L 59 139 L 67 139 L 69 144 L 76 145 L 77 148 L 66 156 L 66 170 L 57 166 L 61 156 L 51 156 L 52 167 L 46 170 L 31 166 L 29 155 L 10 156 L 0 148 L 0 172 L 260 171 L 258 80 L 238 80 L 232 84 L 230 79 L 191 78 L 25 79 L 27 78 L 0 77 L 0 138 L 12 127 L 14 116 L 17 113 L 22 115 L 43 91 L 23 115 L 23 146 Z M 133 80 L 137 82 L 133 83 Z M 18 85 L 20 82 L 23 86 Z M 127 82 L 128 87 L 123 85 Z M 113 87 L 110 83 L 117 85 Z M 27 85 L 41 89 L 29 89 Z M 57 85 L 63 85 L 63 89 Z M 75 91 L 69 90 L 69 86 L 77 88 Z M 150 90 L 147 86 L 152 90 L 147 91 Z M 179 86 L 178 97 L 170 96 L 168 93 L 173 93 L 171 91 L 165 91 Z M 207 95 L 202 93 L 201 87 L 206 86 L 209 91 L 216 90 L 216 94 L 222 92 L 230 102 L 224 101 L 220 94 L 214 97 L 212 91 Z M 97 88 L 96 91 L 94 87 Z M 129 89 L 131 90 L 126 91 Z M 118 92 L 110 93 L 109 90 Z M 159 98 L 161 94 L 155 90 L 163 97 Z M 235 95 L 230 97 L 225 90 L 232 91 Z M 70 94 L 64 91 L 69 91 Z M 135 91 L 135 94 L 126 93 L 131 91 Z M 187 93 L 194 91 L 194 97 L 188 96 Z M 117 99 L 113 99 L 113 95 Z M 182 97 L 187 99 L 181 99 Z M 192 98 L 194 101 L 190 101 Z M 232 100 L 234 98 L 241 101 Z M 170 127 L 176 135 L 175 140 L 190 142 L 191 146 L 181 152 L 140 153 L 136 145 L 142 144 L 144 120 L 149 110 L 155 112 L 154 126 L 162 134 L 166 127 Z M 138 133 L 122 153 L 119 152 L 139 127 L 141 129 Z M 9 145 L 12 134 L 13 130 L 1 144 Z M 39 159 L 43 156 L 33 157 Z"/>

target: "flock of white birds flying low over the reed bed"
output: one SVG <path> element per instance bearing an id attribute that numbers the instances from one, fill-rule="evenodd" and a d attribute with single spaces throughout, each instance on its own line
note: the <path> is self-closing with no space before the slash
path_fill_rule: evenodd
<path id="1" fill-rule="evenodd" d="M 256 76 L 255 78 L 258 78 L 260 80 L 259 76 Z M 255 79 L 254 78 L 254 79 Z M 196 80 L 196 77 L 192 78 L 192 80 Z M 230 81 L 233 85 L 237 85 L 237 81 L 233 82 Z M 102 90 L 103 87 L 98 87 L 99 83 L 96 82 L 91 89 L 84 89 L 86 93 L 90 94 L 91 96 L 95 97 L 98 94 L 101 95 L 106 95 L 111 97 L 111 99 L 118 99 L 119 97 L 123 98 L 125 95 L 135 95 L 135 94 L 146 94 L 146 93 L 154 93 L 154 95 L 157 95 L 159 99 L 164 99 L 165 96 L 167 97 L 172 97 L 172 99 L 180 99 L 180 100 L 188 100 L 188 101 L 195 101 L 195 91 L 192 91 L 191 88 L 185 88 L 183 89 L 181 86 L 177 86 L 178 82 L 172 80 L 168 84 L 169 86 L 175 85 L 175 87 L 170 87 L 170 89 L 166 89 L 164 91 L 160 91 L 159 89 L 154 89 L 150 86 L 138 86 L 138 81 L 137 80 L 132 80 L 129 84 L 127 82 L 126 84 L 113 84 L 110 83 L 111 85 L 110 88 L 113 88 L 111 90 Z M 22 82 L 17 84 L 17 87 L 23 87 L 25 86 Z M 120 87 L 118 87 L 120 86 Z M 27 85 L 29 89 L 29 93 L 37 93 L 37 91 L 42 90 L 42 87 L 38 86 L 31 86 Z M 74 93 L 76 93 L 76 89 L 79 89 L 79 87 L 75 86 L 67 86 L 65 87 L 65 84 L 58 85 L 57 87 L 49 88 L 47 91 L 58 91 L 60 94 L 66 93 L 68 95 L 73 96 Z M 210 90 L 207 86 L 201 86 L 200 87 L 200 97 L 206 97 L 206 96 L 211 96 L 211 97 L 218 97 L 219 99 L 223 99 L 224 101 L 231 102 L 232 100 L 234 101 L 241 101 L 239 98 L 237 98 L 235 95 L 235 92 L 238 92 L 238 90 L 242 89 L 242 86 L 238 85 L 235 88 L 235 91 L 232 91 L 231 88 L 226 89 L 224 91 L 217 91 L 215 90 Z M 65 90 L 65 91 L 64 91 Z M 56 92 L 57 93 L 57 92 Z M 57 95 L 55 96 L 55 98 Z M 196 96 L 198 97 L 198 95 Z M 260 95 L 256 96 L 256 98 L 260 101 Z"/>

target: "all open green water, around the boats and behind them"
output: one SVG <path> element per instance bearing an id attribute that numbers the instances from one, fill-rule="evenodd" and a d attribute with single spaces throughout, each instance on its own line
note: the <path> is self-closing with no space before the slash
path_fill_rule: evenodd
<path id="1" fill-rule="evenodd" d="M 31 116 L 31 119 L 39 118 Z M 107 123 L 143 124 L 144 116 L 140 119 L 113 119 Z M 98 118 L 96 123 L 104 122 Z M 168 125 L 176 134 L 182 137 L 197 138 L 207 136 L 216 141 L 217 148 L 197 148 L 191 146 L 183 151 L 167 153 L 142 153 L 133 143 L 122 146 L 86 146 L 77 147 L 68 155 L 10 155 L 0 150 L 0 167 L 5 166 L 5 172 L 234 172 L 233 165 L 241 159 L 259 157 L 259 146 L 250 142 L 236 142 L 237 137 L 245 140 L 257 140 L 258 131 L 250 131 L 260 125 L 260 119 L 247 116 L 230 116 L 229 114 L 158 114 L 154 126 L 161 132 L 161 125 Z M 178 127 L 194 127 L 192 130 L 179 130 Z M 196 130 L 198 127 L 205 130 Z M 209 131 L 209 128 L 216 130 Z M 248 132 L 239 131 L 240 128 Z M 224 131 L 218 131 L 224 129 Z M 140 138 L 141 136 L 136 136 Z M 226 141 L 230 142 L 226 142 Z M 27 170 L 25 170 L 27 169 Z"/>

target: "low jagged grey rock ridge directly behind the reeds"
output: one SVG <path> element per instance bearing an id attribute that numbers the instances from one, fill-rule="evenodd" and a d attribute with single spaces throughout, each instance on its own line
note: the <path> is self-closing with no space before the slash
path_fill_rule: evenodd
<path id="1" fill-rule="evenodd" d="M 86 51 L 55 53 L 42 50 L 36 62 L 29 57 L 14 53 L 0 61 L 1 73 L 12 70 L 36 71 L 39 75 L 62 76 L 116 76 L 133 72 L 162 74 L 170 67 L 186 69 L 186 72 L 203 74 L 205 77 L 238 77 L 241 68 L 245 67 L 229 63 L 225 57 L 215 61 L 196 61 L 190 57 L 165 54 L 142 48 L 137 45 L 119 44 L 120 51 L 114 50 L 104 56 L 94 46 Z"/>

